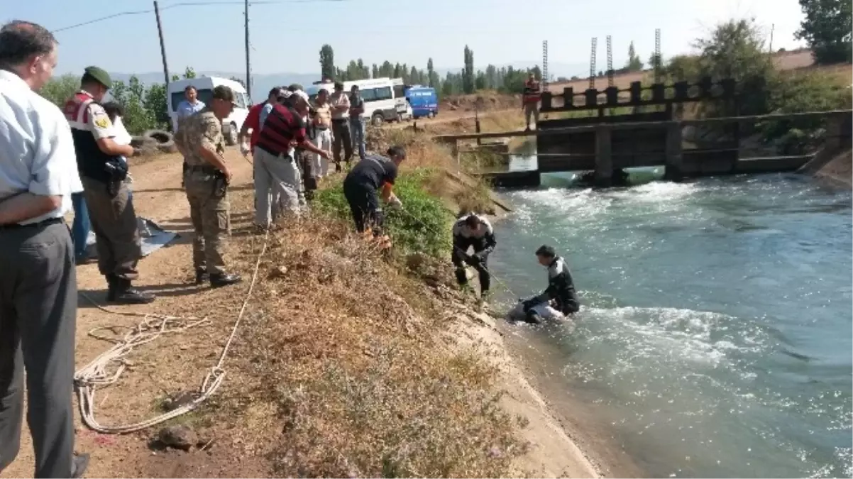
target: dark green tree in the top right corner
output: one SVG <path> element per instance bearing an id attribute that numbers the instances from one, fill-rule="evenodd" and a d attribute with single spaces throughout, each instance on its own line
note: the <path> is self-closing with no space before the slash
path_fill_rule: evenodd
<path id="1" fill-rule="evenodd" d="M 818 63 L 849 60 L 853 0 L 799 0 L 805 19 L 796 38 L 809 43 Z"/>

